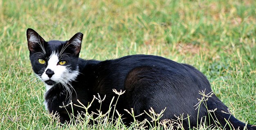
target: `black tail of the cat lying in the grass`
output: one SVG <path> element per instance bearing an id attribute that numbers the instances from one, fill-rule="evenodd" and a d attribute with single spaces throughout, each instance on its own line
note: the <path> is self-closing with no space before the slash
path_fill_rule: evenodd
<path id="1" fill-rule="evenodd" d="M 209 110 L 211 124 L 222 126 L 227 130 L 256 130 L 256 126 L 245 124 L 231 115 L 227 106 L 214 94 L 208 99 L 207 108 Z"/>

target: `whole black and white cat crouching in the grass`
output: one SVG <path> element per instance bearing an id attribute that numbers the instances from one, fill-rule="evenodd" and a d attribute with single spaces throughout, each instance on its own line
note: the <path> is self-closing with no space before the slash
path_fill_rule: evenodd
<path id="1" fill-rule="evenodd" d="M 57 112 L 61 123 L 70 121 L 72 113 L 70 100 L 84 105 L 92 101 L 93 95 L 98 93 L 105 101 L 101 110 L 107 112 L 110 101 L 116 96 L 112 89 L 123 92 L 117 102 L 116 109 L 123 114 L 126 123 L 133 118 L 124 111 L 133 108 L 136 115 L 149 110 L 156 113 L 164 111 L 161 119 L 177 119 L 175 115 L 189 115 L 189 120 L 183 121 L 184 129 L 197 126 L 198 119 L 207 119 L 209 124 L 225 126 L 227 121 L 232 128 L 245 128 L 242 123 L 231 114 L 228 108 L 214 94 L 204 103 L 200 110 L 196 109 L 198 99 L 202 98 L 199 91 L 205 94 L 212 92 L 207 78 L 190 65 L 176 63 L 169 59 L 151 55 L 132 55 L 115 60 L 94 61 L 79 58 L 83 34 L 77 33 L 68 41 L 45 41 L 33 29 L 27 29 L 27 42 L 31 65 L 36 75 L 46 85 L 45 107 L 49 112 Z M 89 112 L 97 112 L 100 104 L 92 103 Z M 85 110 L 73 106 L 74 114 Z M 208 110 L 215 110 L 215 116 L 209 116 Z M 208 118 L 211 117 L 211 118 Z M 151 120 L 147 114 L 137 117 L 137 120 Z M 227 120 L 227 121 L 225 121 Z M 190 121 L 190 122 L 189 122 Z M 248 130 L 256 130 L 251 125 Z M 230 129 L 229 127 L 226 127 Z"/>

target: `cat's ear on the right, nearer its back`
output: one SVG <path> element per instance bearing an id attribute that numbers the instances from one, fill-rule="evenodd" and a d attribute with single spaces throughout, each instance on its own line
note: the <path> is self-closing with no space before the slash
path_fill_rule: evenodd
<path id="1" fill-rule="evenodd" d="M 80 53 L 82 40 L 83 34 L 76 33 L 72 38 L 70 38 L 70 40 L 67 41 L 68 47 L 74 51 L 75 55 Z"/>

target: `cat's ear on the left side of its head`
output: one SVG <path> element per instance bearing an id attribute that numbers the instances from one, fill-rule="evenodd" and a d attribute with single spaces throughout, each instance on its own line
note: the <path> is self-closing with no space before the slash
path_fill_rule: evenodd
<path id="1" fill-rule="evenodd" d="M 33 29 L 27 29 L 27 46 L 30 52 L 35 52 L 38 46 L 42 46 L 45 40 Z"/>

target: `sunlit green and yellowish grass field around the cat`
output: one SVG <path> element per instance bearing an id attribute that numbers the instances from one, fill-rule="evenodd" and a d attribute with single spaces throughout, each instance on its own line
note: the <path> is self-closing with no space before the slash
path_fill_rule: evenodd
<path id="1" fill-rule="evenodd" d="M 31 69 L 27 28 L 45 40 L 82 32 L 85 59 L 152 54 L 193 65 L 236 118 L 256 125 L 255 0 L 0 0 L 0 130 L 133 130 L 52 120 Z"/>

